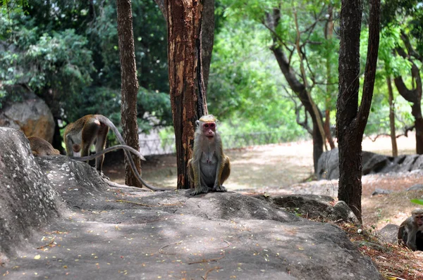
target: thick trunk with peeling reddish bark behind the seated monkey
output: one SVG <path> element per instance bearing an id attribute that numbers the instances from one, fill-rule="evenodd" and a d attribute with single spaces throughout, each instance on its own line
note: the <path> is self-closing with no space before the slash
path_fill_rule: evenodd
<path id="1" fill-rule="evenodd" d="M 168 73 L 176 136 L 178 189 L 189 189 L 195 121 L 207 114 L 202 70 L 203 1 L 165 0 L 168 25 Z"/>

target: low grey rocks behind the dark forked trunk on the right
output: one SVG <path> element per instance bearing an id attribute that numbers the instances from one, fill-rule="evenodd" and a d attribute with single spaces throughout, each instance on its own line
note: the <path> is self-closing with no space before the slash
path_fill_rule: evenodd
<path id="1" fill-rule="evenodd" d="M 317 164 L 318 179 L 339 178 L 338 157 L 338 148 L 321 154 Z M 410 172 L 419 169 L 423 169 L 423 155 L 398 155 L 398 157 L 391 157 L 363 151 L 363 175 L 388 172 Z"/>

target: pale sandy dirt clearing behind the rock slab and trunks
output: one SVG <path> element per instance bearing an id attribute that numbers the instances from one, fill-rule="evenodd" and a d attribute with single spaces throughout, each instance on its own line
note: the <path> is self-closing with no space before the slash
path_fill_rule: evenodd
<path id="1" fill-rule="evenodd" d="M 391 139 L 379 137 L 376 141 L 364 139 L 363 150 L 391 155 Z M 415 153 L 415 136 L 398 139 L 399 154 Z M 230 191 L 243 193 L 321 193 L 337 196 L 337 180 L 301 183 L 312 175 L 312 142 L 253 146 L 226 151 L 231 158 L 231 177 L 225 183 Z M 105 167 L 106 175 L 123 184 L 121 165 Z M 171 155 L 147 158 L 142 163 L 142 176 L 155 186 L 176 188 L 176 158 Z M 422 174 L 380 174 L 363 177 L 362 210 L 364 224 L 383 227 L 391 222 L 400 224 L 416 208 L 410 198 L 423 193 L 404 191 L 413 184 L 423 184 Z M 374 189 L 388 189 L 397 193 L 389 196 L 371 196 Z"/>

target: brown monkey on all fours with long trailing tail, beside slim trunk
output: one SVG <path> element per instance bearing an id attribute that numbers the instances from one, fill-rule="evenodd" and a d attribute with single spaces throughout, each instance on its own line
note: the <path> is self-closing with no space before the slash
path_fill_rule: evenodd
<path id="1" fill-rule="evenodd" d="M 119 143 L 127 146 L 116 126 L 107 117 L 104 117 L 104 115 L 85 115 L 76 122 L 69 124 L 65 129 L 63 138 L 66 144 L 66 154 L 73 157 L 74 152 L 81 151 L 81 157 L 85 158 L 90 151 L 90 147 L 95 143 L 96 154 L 99 153 L 99 156 L 95 157 L 95 167 L 99 174 L 102 174 L 104 154 L 100 155 L 100 153 L 104 151 L 106 146 L 106 136 L 109 132 L 109 128 L 113 130 Z M 139 153 L 137 152 L 137 154 Z M 166 191 L 165 189 L 157 189 L 156 187 L 147 184 L 138 173 L 133 158 L 126 149 L 125 155 L 128 158 L 130 167 L 138 181 L 152 191 Z"/>

